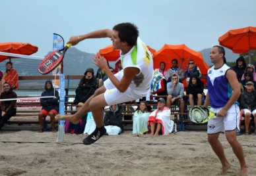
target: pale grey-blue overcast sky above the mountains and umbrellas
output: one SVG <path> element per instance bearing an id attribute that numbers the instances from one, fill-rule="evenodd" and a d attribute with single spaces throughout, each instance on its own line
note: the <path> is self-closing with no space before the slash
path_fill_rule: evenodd
<path id="1" fill-rule="evenodd" d="M 121 22 L 133 22 L 141 39 L 158 51 L 165 43 L 195 51 L 218 45 L 230 29 L 256 26 L 255 0 L 0 0 L 0 43 L 38 46 L 34 56 L 52 51 L 53 33 L 69 40 Z M 77 45 L 97 53 L 110 39 L 88 39 Z"/>

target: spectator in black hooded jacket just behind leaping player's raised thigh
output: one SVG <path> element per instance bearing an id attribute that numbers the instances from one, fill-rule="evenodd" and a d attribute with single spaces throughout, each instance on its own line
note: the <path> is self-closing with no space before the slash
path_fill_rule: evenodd
<path id="1" fill-rule="evenodd" d="M 80 79 L 79 87 L 76 89 L 76 96 L 74 104 L 79 102 L 86 102 L 97 89 L 97 79 L 94 77 L 94 70 L 87 68 L 84 72 L 84 76 Z"/>

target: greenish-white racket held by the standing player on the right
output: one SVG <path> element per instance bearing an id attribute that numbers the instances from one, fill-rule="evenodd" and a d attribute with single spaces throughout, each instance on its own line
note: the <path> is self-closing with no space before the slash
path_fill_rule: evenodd
<path id="1" fill-rule="evenodd" d="M 216 116 L 216 113 L 204 106 L 195 106 L 189 111 L 189 118 L 194 123 L 207 123 L 214 116 Z"/>

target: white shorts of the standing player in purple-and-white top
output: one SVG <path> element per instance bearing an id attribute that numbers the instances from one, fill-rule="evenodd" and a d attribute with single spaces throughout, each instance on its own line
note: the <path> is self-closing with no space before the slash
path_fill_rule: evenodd
<path id="1" fill-rule="evenodd" d="M 216 114 L 221 110 L 222 108 L 210 108 L 212 112 L 215 112 Z M 215 134 L 215 133 L 224 133 L 225 131 L 234 131 L 235 129 L 239 128 L 239 121 L 240 121 L 240 110 L 239 106 L 237 104 L 233 104 L 226 116 L 224 117 L 216 117 L 214 116 L 212 119 L 208 121 L 207 125 L 207 133 L 208 134 Z"/>

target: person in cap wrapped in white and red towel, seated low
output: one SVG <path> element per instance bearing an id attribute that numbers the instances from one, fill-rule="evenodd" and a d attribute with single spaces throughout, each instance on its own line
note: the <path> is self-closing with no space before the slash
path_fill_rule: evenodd
<path id="1" fill-rule="evenodd" d="M 148 133 L 158 136 L 169 135 L 174 129 L 174 121 L 171 120 L 171 110 L 166 107 L 166 100 L 163 98 L 157 101 L 158 108 L 151 112 L 148 117 Z"/>

